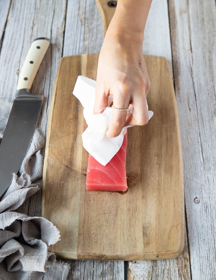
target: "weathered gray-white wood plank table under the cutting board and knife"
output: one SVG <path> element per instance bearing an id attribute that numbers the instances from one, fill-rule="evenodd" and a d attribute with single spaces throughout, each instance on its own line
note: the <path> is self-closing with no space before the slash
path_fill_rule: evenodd
<path id="1" fill-rule="evenodd" d="M 71 264 L 68 279 L 215 279 L 215 17 L 213 0 L 153 0 L 144 33 L 143 53 L 167 58 L 176 91 L 185 177 L 183 253 L 157 261 L 65 260 Z M 60 58 L 100 51 L 103 26 L 95 0 L 0 0 L 0 98 L 13 100 L 37 37 L 52 42 L 33 84 L 44 94 L 39 127 L 46 137 Z M 41 215 L 41 193 L 17 211 Z"/>

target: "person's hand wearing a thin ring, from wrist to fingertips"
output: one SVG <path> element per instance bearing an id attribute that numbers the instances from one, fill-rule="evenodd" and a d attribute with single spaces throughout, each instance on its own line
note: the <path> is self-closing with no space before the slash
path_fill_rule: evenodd
<path id="1" fill-rule="evenodd" d="M 116 137 L 125 125 L 146 125 L 148 111 L 146 96 L 150 89 L 142 39 L 115 34 L 109 26 L 98 60 L 94 113 L 102 113 L 108 105 L 108 96 L 113 96 L 115 108 L 133 105 L 133 112 L 112 109 L 107 137 Z"/>

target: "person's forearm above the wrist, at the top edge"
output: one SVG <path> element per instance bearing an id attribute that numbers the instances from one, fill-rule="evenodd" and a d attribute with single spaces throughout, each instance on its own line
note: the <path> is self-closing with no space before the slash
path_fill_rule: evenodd
<path id="1" fill-rule="evenodd" d="M 152 0 L 118 0 L 108 32 L 143 41 L 144 28 Z"/>

